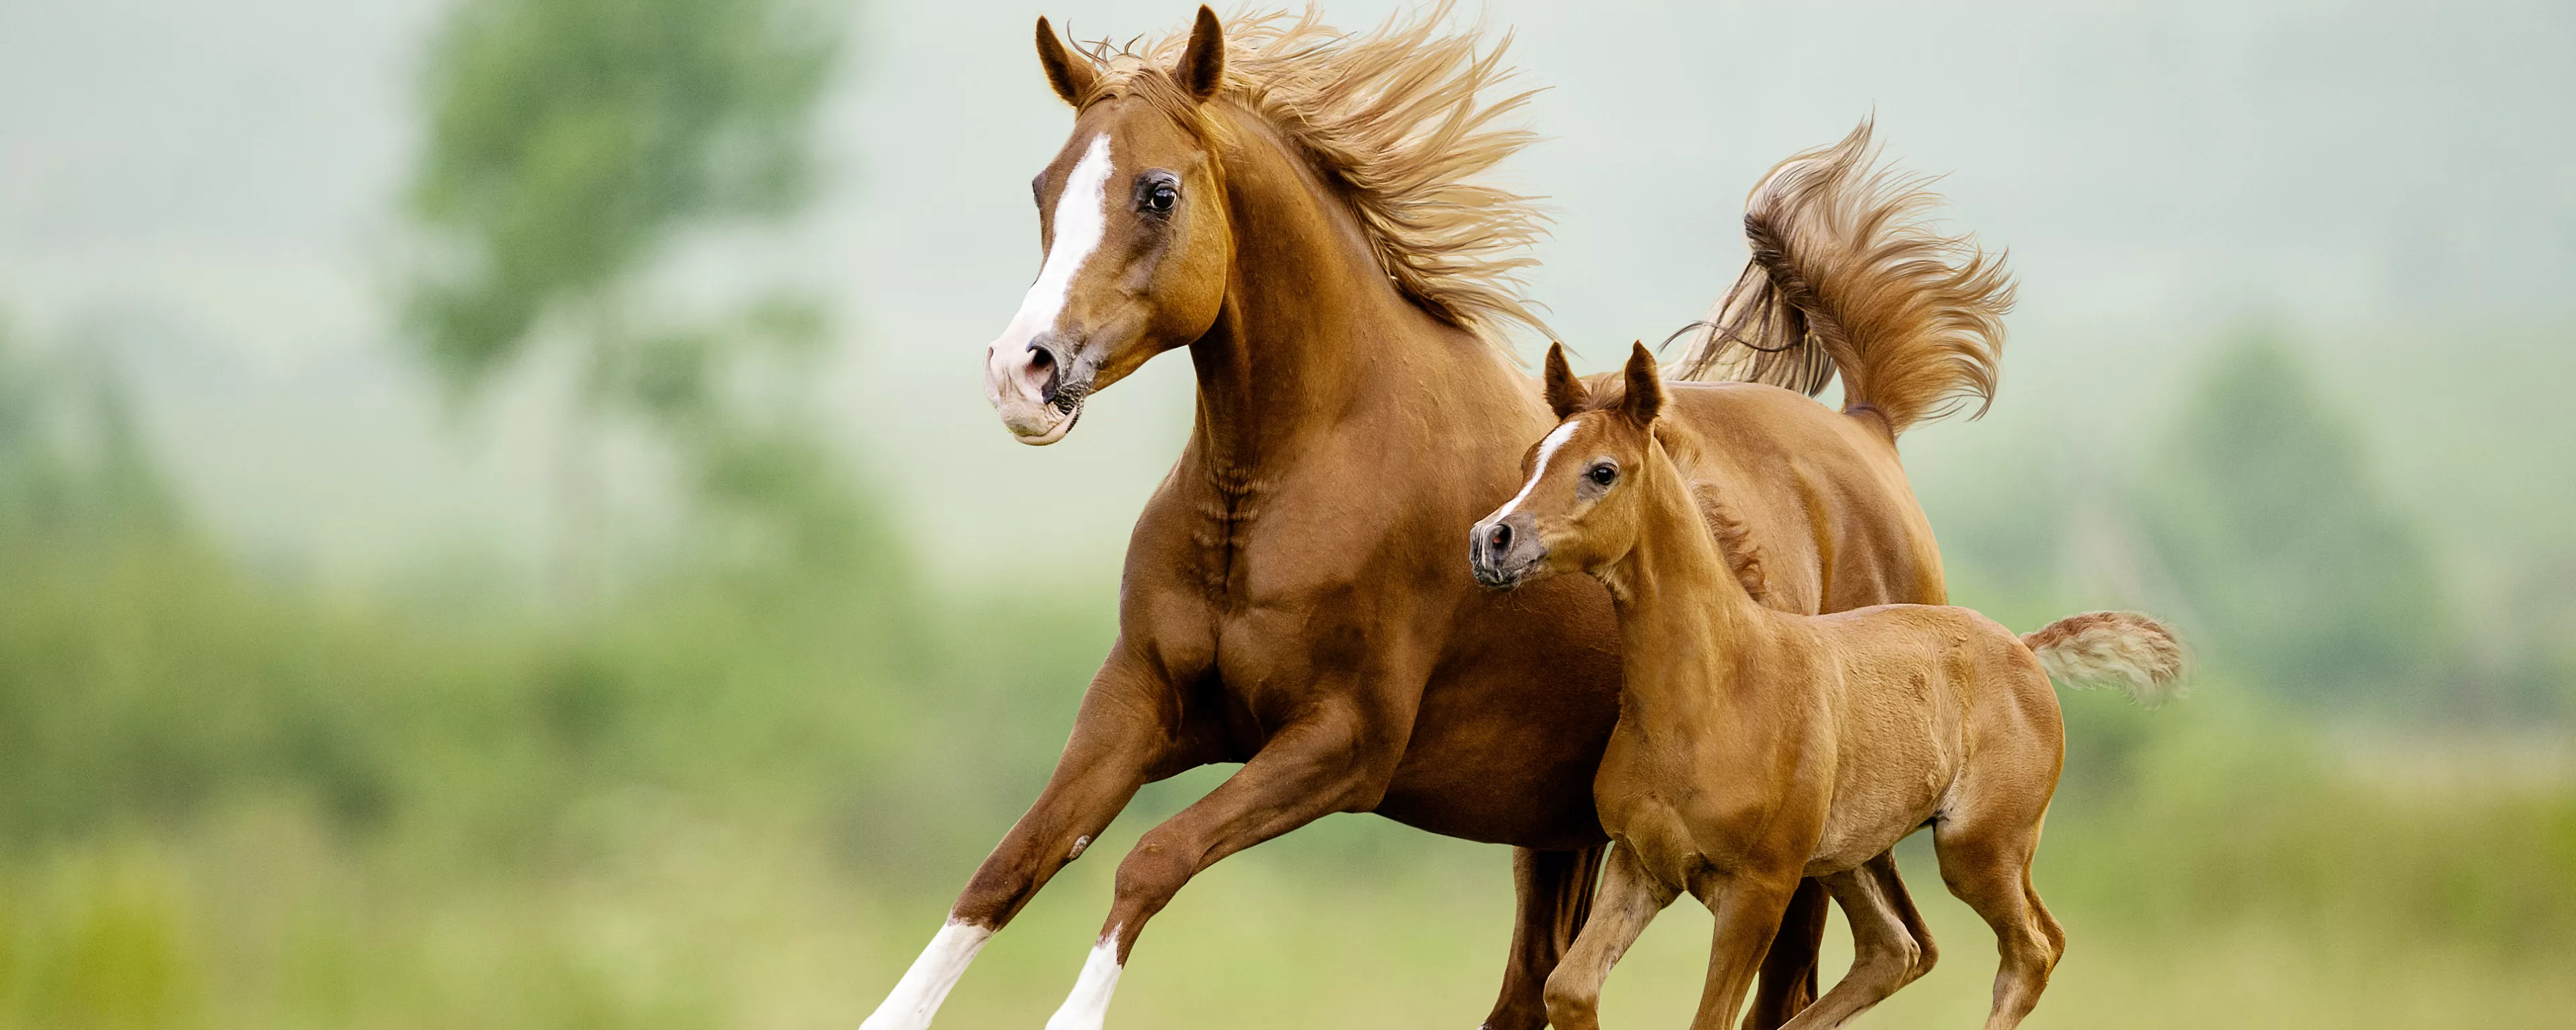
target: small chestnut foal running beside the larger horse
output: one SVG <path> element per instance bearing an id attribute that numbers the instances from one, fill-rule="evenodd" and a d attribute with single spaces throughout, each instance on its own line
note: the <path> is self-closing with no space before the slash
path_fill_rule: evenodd
<path id="1" fill-rule="evenodd" d="M 1468 546 L 1481 582 L 1528 590 L 1582 572 L 1618 608 L 1620 718 L 1592 780 L 1615 845 L 1597 912 L 1548 979 L 1548 1022 L 1600 1027 L 1610 966 L 1690 891 L 1716 914 L 1692 1027 L 1734 1025 L 1790 894 L 1821 878 L 1852 924 L 1852 971 L 1788 1025 L 1839 1027 L 1932 968 L 1891 852 L 1932 827 L 1942 883 L 2002 945 L 1986 1030 L 2020 1025 L 2066 953 L 2030 886 L 2066 757 L 2048 675 L 2154 706 L 2182 675 L 2174 633 L 2136 613 L 2022 639 L 1968 608 L 1765 608 L 1708 533 L 1734 497 L 1687 474 L 1710 451 L 1662 417 L 1643 342 L 1625 379 L 1595 399 L 1564 348 L 1548 350 L 1564 422 Z"/>

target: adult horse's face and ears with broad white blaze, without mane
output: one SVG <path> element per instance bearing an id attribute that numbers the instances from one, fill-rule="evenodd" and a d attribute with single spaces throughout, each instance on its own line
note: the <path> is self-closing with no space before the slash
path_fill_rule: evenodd
<path id="1" fill-rule="evenodd" d="M 1084 397 L 1206 335 L 1234 245 L 1198 113 L 1226 77 L 1213 10 L 1172 67 L 1100 70 L 1038 18 L 1038 64 L 1079 116 L 1030 183 L 1038 281 L 984 353 L 984 394 L 1020 443 L 1061 440 Z"/>

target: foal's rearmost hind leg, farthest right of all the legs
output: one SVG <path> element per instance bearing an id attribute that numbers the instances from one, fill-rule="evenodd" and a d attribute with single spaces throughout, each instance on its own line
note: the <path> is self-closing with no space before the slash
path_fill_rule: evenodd
<path id="1" fill-rule="evenodd" d="M 2040 806 L 2045 803 L 2043 793 Z M 2048 971 L 2066 953 L 2066 930 L 2030 886 L 2030 852 L 2038 842 L 2038 811 L 1971 811 L 1932 827 L 1942 883 L 1994 927 L 1994 945 L 2004 958 L 1994 973 L 1986 1030 L 2020 1025 L 2040 1004 Z"/>

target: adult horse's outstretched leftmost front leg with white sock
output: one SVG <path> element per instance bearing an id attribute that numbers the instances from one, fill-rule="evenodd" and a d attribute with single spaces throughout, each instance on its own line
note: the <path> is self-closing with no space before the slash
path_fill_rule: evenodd
<path id="1" fill-rule="evenodd" d="M 904 971 L 860 1030 L 922 1030 L 984 942 L 1020 914 L 1066 863 L 1090 847 L 1146 780 L 1195 765 L 1180 747 L 1182 713 L 1172 688 L 1126 641 L 1082 695 L 1074 734 L 1046 791 L 948 909 L 948 922 Z"/>

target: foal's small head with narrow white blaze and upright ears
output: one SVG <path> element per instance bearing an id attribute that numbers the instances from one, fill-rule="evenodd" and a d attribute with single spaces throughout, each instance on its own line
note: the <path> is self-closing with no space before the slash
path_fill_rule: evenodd
<path id="1" fill-rule="evenodd" d="M 1664 379 L 1643 342 L 1628 355 L 1625 394 L 1607 402 L 1574 379 L 1564 345 L 1548 348 L 1548 407 L 1558 422 L 1522 458 L 1520 494 L 1468 530 L 1486 587 L 1618 564 L 1643 530 L 1643 487 L 1680 474 L 1656 435 Z"/>

